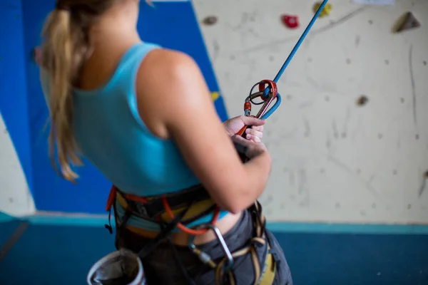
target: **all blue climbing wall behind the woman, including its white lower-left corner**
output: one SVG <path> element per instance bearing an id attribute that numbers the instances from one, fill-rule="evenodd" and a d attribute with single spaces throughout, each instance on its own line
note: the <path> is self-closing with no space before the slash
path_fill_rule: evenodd
<path id="1" fill-rule="evenodd" d="M 104 213 L 110 183 L 89 162 L 78 170 L 77 185 L 56 175 L 48 157 L 48 110 L 32 51 L 55 1 L 0 3 L 0 211 L 23 215 L 38 211 Z M 222 120 L 228 115 L 190 1 L 141 4 L 138 31 L 144 41 L 184 51 L 195 58 Z M 6 42 L 4 42 L 4 40 Z M 34 204 L 36 207 L 34 207 Z"/>

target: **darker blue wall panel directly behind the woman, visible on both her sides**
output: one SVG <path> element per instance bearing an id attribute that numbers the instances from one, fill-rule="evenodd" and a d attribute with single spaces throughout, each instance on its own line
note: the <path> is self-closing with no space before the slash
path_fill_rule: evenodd
<path id="1" fill-rule="evenodd" d="M 46 15 L 54 1 L 23 0 L 24 41 L 26 54 L 41 43 L 40 33 Z M 198 62 L 211 92 L 219 92 L 213 68 L 195 19 L 193 6 L 188 2 L 156 3 L 156 8 L 142 4 L 138 30 L 144 41 L 159 43 L 190 54 Z M 21 56 L 22 58 L 22 56 Z M 21 83 L 22 84 L 22 83 Z M 36 208 L 60 212 L 103 212 L 110 183 L 95 167 L 86 162 L 78 169 L 81 178 L 77 185 L 62 180 L 51 167 L 48 157 L 47 135 L 44 130 L 48 110 L 39 83 L 39 69 L 26 58 L 26 85 L 29 98 L 29 129 L 33 158 L 34 200 Z M 222 120 L 227 119 L 221 97 L 215 106 Z"/>

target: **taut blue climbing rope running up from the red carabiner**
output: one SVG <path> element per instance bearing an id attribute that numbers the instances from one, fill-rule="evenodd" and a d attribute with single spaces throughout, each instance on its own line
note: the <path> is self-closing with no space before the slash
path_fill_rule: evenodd
<path id="1" fill-rule="evenodd" d="M 280 71 L 278 71 L 277 75 L 275 76 L 275 78 L 273 80 L 275 83 L 277 83 L 280 80 L 280 78 L 281 78 L 282 74 L 284 73 L 285 69 L 290 64 L 290 61 L 295 56 L 295 53 L 297 52 L 297 50 L 302 45 L 303 40 L 305 40 L 305 38 L 307 36 L 307 33 L 309 33 L 310 29 L 315 24 L 315 21 L 317 21 L 318 16 L 320 16 L 320 13 L 321 13 L 322 9 L 324 9 L 324 7 L 327 4 L 327 2 L 328 2 L 328 0 L 322 1 L 322 4 L 320 5 L 320 7 L 315 12 L 315 15 L 312 17 L 312 20 L 310 21 L 310 23 L 305 28 L 305 31 L 302 33 L 302 36 L 300 36 L 300 38 L 297 41 L 297 43 L 295 44 L 294 48 L 292 48 L 292 51 L 290 52 L 290 55 L 287 57 L 287 59 L 285 60 L 284 64 L 280 68 Z M 269 87 L 267 87 L 263 91 L 263 95 L 265 96 L 265 98 L 267 98 L 267 95 L 268 95 L 269 91 L 270 91 Z M 275 112 L 275 110 L 277 110 L 277 108 L 280 106 L 280 103 L 281 103 L 281 95 L 280 95 L 280 93 L 277 93 L 277 99 L 276 99 L 275 104 L 272 106 L 272 108 L 270 108 L 269 110 L 267 110 L 267 112 L 260 119 L 265 120 L 265 119 L 269 118 L 269 116 L 272 115 L 272 113 Z"/>

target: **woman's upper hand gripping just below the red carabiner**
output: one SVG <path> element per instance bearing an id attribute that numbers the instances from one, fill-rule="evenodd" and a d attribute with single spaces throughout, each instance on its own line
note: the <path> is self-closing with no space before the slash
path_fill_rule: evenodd
<path id="1" fill-rule="evenodd" d="M 248 140 L 253 140 L 253 142 L 261 142 L 263 138 L 263 125 L 265 125 L 265 123 L 265 120 L 240 115 L 225 121 L 223 125 L 225 126 L 226 132 L 230 137 L 238 133 L 244 125 L 250 125 L 252 128 L 248 128 L 245 131 L 245 138 Z"/>

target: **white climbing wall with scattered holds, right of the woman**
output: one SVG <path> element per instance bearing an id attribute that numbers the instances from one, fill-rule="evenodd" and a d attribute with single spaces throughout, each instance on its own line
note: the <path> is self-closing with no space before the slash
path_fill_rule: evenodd
<path id="1" fill-rule="evenodd" d="M 229 115 L 275 77 L 312 18 L 308 0 L 194 0 Z M 280 80 L 267 123 L 274 157 L 261 199 L 270 220 L 428 223 L 428 1 L 332 0 Z M 394 34 L 413 11 L 422 28 Z M 281 14 L 297 14 L 291 31 Z M 355 104 L 360 95 L 369 102 Z M 427 183 L 428 184 L 428 183 Z"/>

